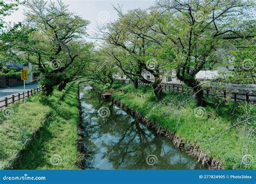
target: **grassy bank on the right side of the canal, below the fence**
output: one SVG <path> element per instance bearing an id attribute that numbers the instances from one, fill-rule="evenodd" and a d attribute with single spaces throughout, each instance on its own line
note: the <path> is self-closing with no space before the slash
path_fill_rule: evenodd
<path id="1" fill-rule="evenodd" d="M 109 86 L 103 86 L 96 82 L 93 82 L 93 85 L 104 91 L 110 89 Z M 123 89 L 127 93 L 122 93 L 118 89 Z M 245 136 L 243 140 L 244 124 L 235 126 L 215 139 L 220 132 L 239 121 L 232 114 L 245 115 L 242 104 L 227 102 L 219 105 L 219 100 L 207 98 L 209 105 L 205 108 L 205 115 L 198 117 L 194 112 L 196 109 L 194 100 L 188 100 L 184 107 L 177 108 L 181 101 L 189 97 L 185 94 L 180 95 L 181 93 L 177 91 L 164 91 L 164 101 L 167 103 L 160 103 L 154 97 L 151 87 L 139 87 L 136 90 L 132 85 L 115 82 L 112 90 L 114 98 L 137 110 L 140 114 L 148 116 L 153 122 L 158 122 L 164 128 L 177 133 L 183 140 L 200 146 L 202 151 L 218 159 L 225 169 L 256 168 L 256 161 L 250 162 L 250 165 L 246 167 L 244 164 L 241 165 L 243 142 L 245 143 L 244 155 L 248 154 L 250 159 L 254 158 L 256 153 L 255 137 L 253 136 L 246 153 L 248 136 Z M 137 94 L 149 98 L 141 98 Z M 255 106 L 251 113 L 256 114 Z M 247 128 L 249 126 L 252 124 L 247 124 Z"/>

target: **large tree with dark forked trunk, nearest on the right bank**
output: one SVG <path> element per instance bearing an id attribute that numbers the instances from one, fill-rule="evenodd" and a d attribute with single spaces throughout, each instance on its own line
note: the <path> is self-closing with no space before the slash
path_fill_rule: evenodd
<path id="1" fill-rule="evenodd" d="M 177 77 L 193 88 L 198 106 L 205 106 L 206 101 L 196 74 L 213 62 L 224 43 L 229 47 L 254 38 L 250 26 L 253 7 L 243 1 L 166 0 L 158 1 L 151 12 L 157 24 L 150 28 L 166 39 L 164 49 L 174 54 L 172 66 Z"/>

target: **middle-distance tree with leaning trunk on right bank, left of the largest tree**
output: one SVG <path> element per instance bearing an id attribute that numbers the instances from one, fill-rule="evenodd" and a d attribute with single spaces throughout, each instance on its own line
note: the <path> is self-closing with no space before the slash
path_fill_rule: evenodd
<path id="1" fill-rule="evenodd" d="M 160 83 L 164 67 L 160 66 L 159 61 L 162 60 L 157 52 L 161 44 L 149 36 L 156 33 L 150 30 L 149 25 L 152 23 L 147 21 L 148 13 L 136 9 L 124 14 L 120 9 L 116 10 L 119 15 L 118 20 L 106 24 L 104 29 L 99 29 L 103 34 L 101 39 L 113 45 L 111 52 L 107 53 L 117 60 L 117 66 L 133 81 L 135 88 L 138 88 L 138 79 L 145 83 L 152 83 L 154 94 L 162 98 L 164 95 Z M 124 63 L 128 63 L 129 66 L 127 67 Z M 152 73 L 153 82 L 144 79 L 142 72 L 145 70 Z"/>

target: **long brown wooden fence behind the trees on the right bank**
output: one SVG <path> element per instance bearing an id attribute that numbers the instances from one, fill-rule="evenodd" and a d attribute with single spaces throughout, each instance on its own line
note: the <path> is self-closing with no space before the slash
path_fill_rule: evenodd
<path id="1" fill-rule="evenodd" d="M 126 84 L 133 84 L 132 81 L 130 80 L 117 80 L 122 83 Z M 144 83 L 139 81 L 139 86 L 151 86 L 149 83 Z M 193 90 L 191 90 L 190 87 L 184 86 L 184 85 L 178 85 L 178 84 L 171 84 L 171 83 L 161 83 L 161 88 L 163 90 L 175 90 L 175 91 L 180 91 L 181 93 L 185 93 L 188 91 L 188 93 L 193 93 Z M 203 88 L 204 94 L 208 96 L 218 96 L 221 98 L 225 98 L 228 100 L 233 100 L 234 102 L 237 101 L 247 101 L 247 102 L 254 102 L 256 103 L 256 95 L 250 94 L 250 93 L 235 93 L 223 89 L 216 89 L 216 88 Z"/>

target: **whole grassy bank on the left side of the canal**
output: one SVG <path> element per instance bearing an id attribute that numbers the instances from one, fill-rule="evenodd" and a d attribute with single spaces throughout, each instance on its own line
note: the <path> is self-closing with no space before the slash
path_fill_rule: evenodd
<path id="1" fill-rule="evenodd" d="M 16 160 L 15 169 L 78 169 L 77 88 L 78 85 L 73 84 L 67 91 L 55 90 L 48 98 L 36 95 L 26 104 L 11 107 L 14 115 L 0 124 L 0 165 L 3 168 Z M 25 141 L 39 128 L 25 149 Z M 21 157 L 16 159 L 18 150 L 22 150 Z"/>

